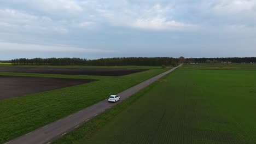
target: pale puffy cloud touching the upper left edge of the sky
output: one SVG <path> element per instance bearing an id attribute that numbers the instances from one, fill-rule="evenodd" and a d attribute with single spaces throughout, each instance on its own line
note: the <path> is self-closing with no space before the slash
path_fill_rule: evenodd
<path id="1" fill-rule="evenodd" d="M 68 33 L 68 29 L 60 22 L 48 16 L 37 16 L 15 9 L 0 9 L 0 29 L 9 32 L 28 33 Z M 56 25 L 59 23 L 60 25 Z"/>

